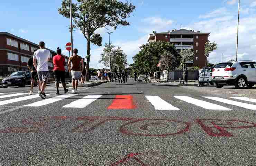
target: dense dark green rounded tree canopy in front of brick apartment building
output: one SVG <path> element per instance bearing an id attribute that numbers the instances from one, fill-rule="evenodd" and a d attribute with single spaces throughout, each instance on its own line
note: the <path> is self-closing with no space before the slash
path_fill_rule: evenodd
<path id="1" fill-rule="evenodd" d="M 149 42 L 140 46 L 140 51 L 133 58 L 134 64 L 131 64 L 132 70 L 138 74 L 158 70 L 157 64 L 164 52 L 172 54 L 176 61 L 179 61 L 177 51 L 170 42 Z"/>

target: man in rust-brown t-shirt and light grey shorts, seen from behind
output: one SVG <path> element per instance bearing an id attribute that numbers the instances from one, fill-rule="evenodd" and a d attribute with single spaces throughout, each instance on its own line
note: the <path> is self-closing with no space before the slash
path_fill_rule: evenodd
<path id="1" fill-rule="evenodd" d="M 77 92 L 78 80 L 81 77 L 81 72 L 83 72 L 84 70 L 84 65 L 83 65 L 83 59 L 77 55 L 78 50 L 76 48 L 73 50 L 73 53 L 74 55 L 68 59 L 67 66 L 68 66 L 68 70 L 71 71 L 71 75 L 72 75 L 72 86 L 73 86 L 72 92 L 78 93 Z M 71 67 L 71 63 L 72 63 L 72 67 Z M 80 67 L 80 64 L 82 67 Z"/>

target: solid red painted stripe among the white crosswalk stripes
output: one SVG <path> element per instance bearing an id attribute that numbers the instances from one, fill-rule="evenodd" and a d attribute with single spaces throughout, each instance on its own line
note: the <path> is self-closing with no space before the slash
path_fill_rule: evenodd
<path id="1" fill-rule="evenodd" d="M 136 105 L 133 102 L 132 95 L 116 95 L 116 98 L 113 100 L 112 104 L 108 109 L 136 109 Z"/>

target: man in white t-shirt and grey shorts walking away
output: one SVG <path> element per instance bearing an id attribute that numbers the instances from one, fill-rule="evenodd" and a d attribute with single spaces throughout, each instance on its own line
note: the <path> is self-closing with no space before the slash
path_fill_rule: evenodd
<path id="1" fill-rule="evenodd" d="M 37 70 L 38 79 L 41 82 L 41 93 L 39 96 L 42 99 L 46 98 L 46 95 L 44 93 L 46 84 L 47 84 L 47 78 L 48 78 L 48 61 L 50 61 L 50 51 L 45 49 L 45 43 L 39 42 L 39 47 L 33 56 L 33 64 Z M 36 64 L 37 62 L 37 64 Z"/>

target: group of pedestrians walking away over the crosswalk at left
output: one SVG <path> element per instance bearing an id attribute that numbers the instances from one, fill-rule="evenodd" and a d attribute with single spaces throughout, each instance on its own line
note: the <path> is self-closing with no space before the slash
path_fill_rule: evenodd
<path id="1" fill-rule="evenodd" d="M 60 94 L 59 84 L 62 83 L 64 93 L 68 92 L 65 83 L 65 58 L 61 55 L 62 51 L 58 47 L 57 55 L 53 57 L 53 72 L 55 77 L 56 94 Z M 86 76 L 86 63 L 84 58 L 77 55 L 78 50 L 73 50 L 74 55 L 68 59 L 68 70 L 72 76 L 72 92 L 77 93 L 79 79 L 84 83 Z M 48 61 L 50 61 L 50 51 L 45 49 L 45 43 L 39 42 L 39 49 L 34 50 L 34 55 L 28 61 L 28 69 L 31 71 L 31 85 L 29 95 L 33 95 L 33 87 L 35 81 L 38 82 L 38 94 L 42 99 L 46 99 L 45 88 L 48 79 Z M 72 63 L 72 66 L 71 66 Z"/>

